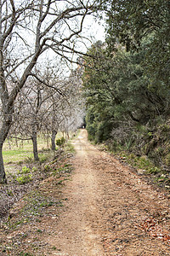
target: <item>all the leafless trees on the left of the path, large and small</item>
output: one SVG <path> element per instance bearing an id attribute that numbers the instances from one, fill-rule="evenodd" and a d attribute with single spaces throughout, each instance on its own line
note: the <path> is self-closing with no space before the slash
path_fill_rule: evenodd
<path id="1" fill-rule="evenodd" d="M 0 1 L 1 183 L 5 141 L 31 140 L 38 160 L 37 135 L 51 137 L 54 150 L 58 131 L 68 137 L 81 124 L 81 70 L 72 65 L 83 21 L 93 12 L 88 1 Z"/>

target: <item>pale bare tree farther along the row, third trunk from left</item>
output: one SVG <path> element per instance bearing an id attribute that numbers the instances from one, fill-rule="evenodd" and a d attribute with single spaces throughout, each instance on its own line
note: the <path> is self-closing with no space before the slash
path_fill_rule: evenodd
<path id="1" fill-rule="evenodd" d="M 82 70 L 79 67 L 71 71 L 70 76 L 65 79 L 58 79 L 54 75 L 54 69 L 50 68 L 46 74 L 46 84 L 50 88 L 46 89 L 48 93 L 48 124 L 45 125 L 46 131 L 51 133 L 51 146 L 55 150 L 55 137 L 58 131 L 63 131 L 67 137 L 69 131 L 76 131 L 82 124 L 84 116 L 84 104 L 81 98 L 82 90 Z M 57 90 L 54 90 L 54 88 Z M 49 125 L 50 124 L 50 125 Z M 44 125 L 43 125 L 44 126 Z"/>

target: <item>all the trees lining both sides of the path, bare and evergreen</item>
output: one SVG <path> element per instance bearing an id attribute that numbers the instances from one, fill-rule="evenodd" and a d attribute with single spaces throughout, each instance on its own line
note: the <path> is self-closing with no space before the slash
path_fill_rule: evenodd
<path id="1" fill-rule="evenodd" d="M 34 160 L 39 160 L 39 134 L 50 138 L 55 150 L 58 131 L 69 137 L 83 119 L 94 143 L 126 151 L 135 161 L 142 157 L 146 167 L 156 166 L 151 172 L 161 169 L 168 175 L 169 4 L 0 3 L 2 183 L 7 181 L 3 143 L 31 140 Z M 106 36 L 105 42 L 97 41 L 83 52 L 88 15 L 105 24 Z"/>

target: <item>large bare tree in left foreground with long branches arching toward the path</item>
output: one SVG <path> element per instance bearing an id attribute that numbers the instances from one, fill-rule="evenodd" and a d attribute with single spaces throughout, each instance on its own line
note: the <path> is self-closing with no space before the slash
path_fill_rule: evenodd
<path id="1" fill-rule="evenodd" d="M 89 0 L 0 0 L 0 182 L 6 182 L 3 143 L 14 114 L 14 101 L 45 52 L 66 56 L 82 32 Z M 49 51 L 50 49 L 50 51 Z M 10 85 L 10 87 L 8 86 Z"/>

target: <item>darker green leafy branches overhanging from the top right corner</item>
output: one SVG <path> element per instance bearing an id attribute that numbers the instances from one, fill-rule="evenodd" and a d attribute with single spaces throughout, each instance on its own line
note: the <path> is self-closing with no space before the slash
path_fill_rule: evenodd
<path id="1" fill-rule="evenodd" d="M 116 38 L 126 49 L 138 50 L 142 40 L 150 36 L 144 65 L 150 73 L 151 84 L 156 79 L 169 84 L 170 3 L 167 0 L 105 1 L 108 43 Z"/>

